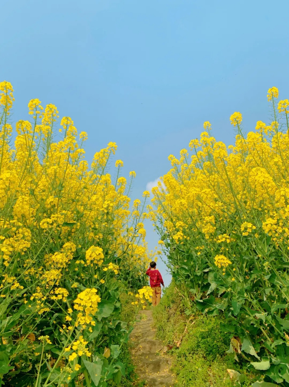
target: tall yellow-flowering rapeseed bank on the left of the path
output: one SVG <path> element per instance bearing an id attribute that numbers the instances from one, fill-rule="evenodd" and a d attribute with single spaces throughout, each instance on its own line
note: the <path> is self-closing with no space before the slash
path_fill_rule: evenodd
<path id="1" fill-rule="evenodd" d="M 37 98 L 13 145 L 12 92 L 0 82 L 0 385 L 106 387 L 125 374 L 132 330 L 120 296 L 142 288 L 150 259 L 148 193 L 130 211 L 135 172 L 127 182 L 117 160 L 108 173 L 117 145 L 89 166 L 87 134 L 69 117 L 59 130 L 56 106 Z"/>

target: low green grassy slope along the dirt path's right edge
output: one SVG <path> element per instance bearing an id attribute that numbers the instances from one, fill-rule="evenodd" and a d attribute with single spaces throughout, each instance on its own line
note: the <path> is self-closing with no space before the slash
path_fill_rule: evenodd
<path id="1" fill-rule="evenodd" d="M 172 371 L 177 375 L 175 387 L 229 387 L 238 378 L 243 387 L 250 386 L 255 376 L 247 372 L 247 363 L 238 363 L 226 353 L 230 334 L 220 329 L 224 317 L 207 317 L 197 310 L 187 316 L 185 311 L 183 292 L 173 281 L 153 316 L 157 337 L 173 346 L 169 354 L 173 357 Z M 227 370 L 232 370 L 232 380 Z"/>

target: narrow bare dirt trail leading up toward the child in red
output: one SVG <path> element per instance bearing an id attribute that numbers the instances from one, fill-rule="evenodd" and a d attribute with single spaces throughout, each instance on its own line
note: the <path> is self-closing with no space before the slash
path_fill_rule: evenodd
<path id="1" fill-rule="evenodd" d="M 154 339 L 152 310 L 142 310 L 140 317 L 130 336 L 132 359 L 139 379 L 146 380 L 149 387 L 173 387 L 171 359 L 164 353 L 164 344 Z"/>

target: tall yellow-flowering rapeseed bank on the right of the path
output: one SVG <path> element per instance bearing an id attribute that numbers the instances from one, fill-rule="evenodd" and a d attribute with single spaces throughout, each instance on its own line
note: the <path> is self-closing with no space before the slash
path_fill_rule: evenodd
<path id="1" fill-rule="evenodd" d="M 276 87 L 267 98 L 269 125 L 246 135 L 235 112 L 234 145 L 205 122 L 190 151 L 169 156 L 152 220 L 186 314 L 224 315 L 230 352 L 266 383 L 289 386 L 289 102 Z"/>

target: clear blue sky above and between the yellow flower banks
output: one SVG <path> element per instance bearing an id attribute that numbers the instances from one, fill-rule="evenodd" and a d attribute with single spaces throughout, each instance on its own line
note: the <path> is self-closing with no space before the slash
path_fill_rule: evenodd
<path id="1" fill-rule="evenodd" d="M 0 79 L 15 120 L 31 98 L 71 116 L 89 160 L 117 142 L 139 197 L 204 121 L 228 145 L 234 111 L 251 130 L 268 120 L 269 87 L 289 97 L 288 12 L 285 0 L 1 0 Z"/>

